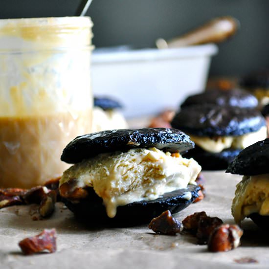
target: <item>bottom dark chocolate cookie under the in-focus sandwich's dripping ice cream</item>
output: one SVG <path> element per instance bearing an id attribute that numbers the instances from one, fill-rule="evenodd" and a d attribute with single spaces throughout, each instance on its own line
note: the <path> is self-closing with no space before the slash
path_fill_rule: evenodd
<path id="1" fill-rule="evenodd" d="M 185 189 L 165 193 L 156 200 L 133 202 L 118 206 L 114 218 L 107 216 L 103 200 L 96 195 L 92 188 L 89 188 L 89 196 L 86 199 L 73 203 L 63 198 L 63 202 L 79 220 L 87 224 L 132 226 L 148 223 L 168 209 L 172 214 L 181 211 L 199 196 L 199 190 L 199 186 L 188 185 Z M 186 195 L 188 192 L 191 193 L 191 199 L 189 200 L 187 200 Z"/>

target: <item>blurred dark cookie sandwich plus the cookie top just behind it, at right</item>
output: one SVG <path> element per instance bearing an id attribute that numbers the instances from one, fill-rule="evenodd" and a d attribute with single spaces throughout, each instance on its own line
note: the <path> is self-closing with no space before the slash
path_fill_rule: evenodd
<path id="1" fill-rule="evenodd" d="M 171 125 L 190 135 L 193 157 L 205 170 L 226 169 L 249 145 L 267 136 L 257 99 L 244 90 L 208 90 L 188 97 Z"/>

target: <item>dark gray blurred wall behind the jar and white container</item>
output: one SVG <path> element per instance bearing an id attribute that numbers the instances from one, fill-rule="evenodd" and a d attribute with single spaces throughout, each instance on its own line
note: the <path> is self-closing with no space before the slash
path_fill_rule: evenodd
<path id="1" fill-rule="evenodd" d="M 1 0 L 0 18 L 72 16 L 78 0 Z M 220 44 L 211 75 L 238 76 L 269 67 L 268 0 L 93 0 L 87 15 L 94 22 L 96 47 L 149 47 L 217 16 L 231 15 L 241 29 Z"/>

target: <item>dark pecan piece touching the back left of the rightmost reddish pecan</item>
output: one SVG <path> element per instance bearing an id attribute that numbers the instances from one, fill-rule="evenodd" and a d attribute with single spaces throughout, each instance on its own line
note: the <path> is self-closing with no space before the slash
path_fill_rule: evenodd
<path id="1" fill-rule="evenodd" d="M 223 224 L 223 221 L 217 217 L 203 216 L 199 220 L 198 229 L 196 237 L 198 238 L 199 244 L 206 244 L 210 234 L 214 231 L 216 227 Z"/>

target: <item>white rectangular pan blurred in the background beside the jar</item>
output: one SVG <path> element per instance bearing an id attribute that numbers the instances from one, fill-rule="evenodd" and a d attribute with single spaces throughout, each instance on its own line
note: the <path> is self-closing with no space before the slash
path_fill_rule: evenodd
<path id="1" fill-rule="evenodd" d="M 93 94 L 121 101 L 128 118 L 177 109 L 188 95 L 204 89 L 217 52 L 208 44 L 93 53 Z"/>

